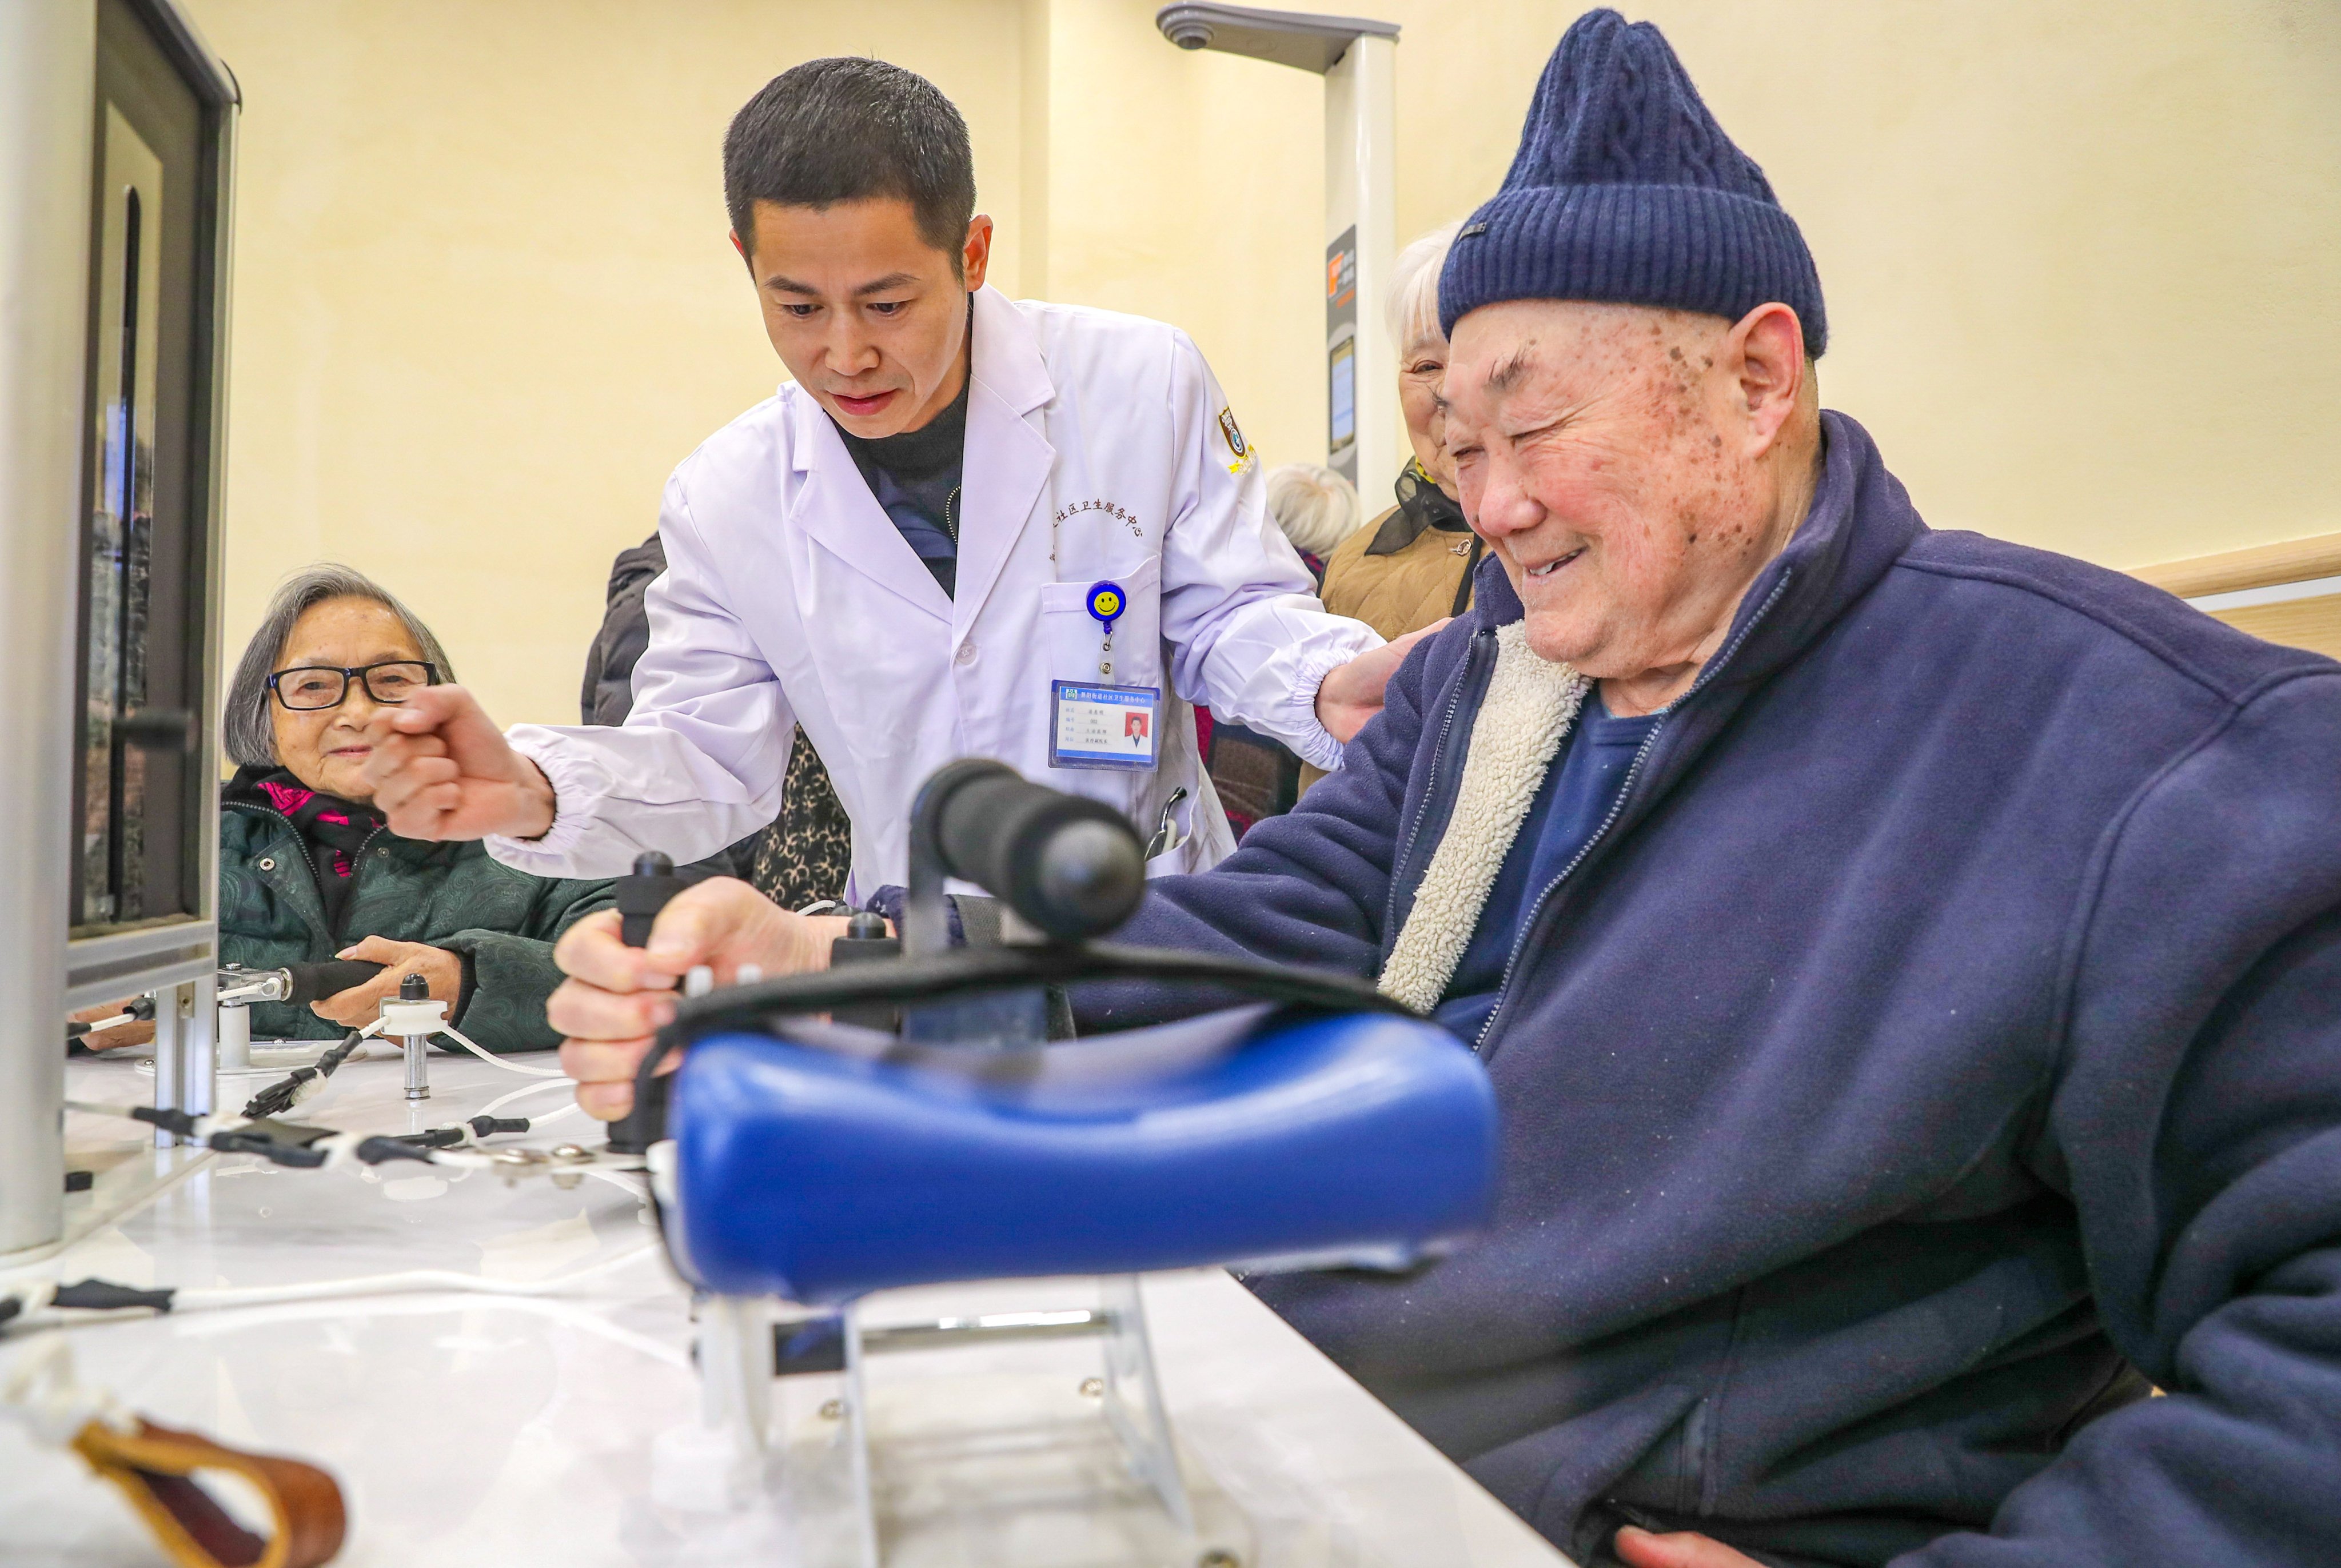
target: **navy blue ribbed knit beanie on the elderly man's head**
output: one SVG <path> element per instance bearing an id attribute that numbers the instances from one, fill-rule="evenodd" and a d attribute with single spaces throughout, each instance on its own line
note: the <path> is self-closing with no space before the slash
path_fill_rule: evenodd
<path id="1" fill-rule="evenodd" d="M 1585 12 L 1545 63 L 1496 199 L 1440 271 L 1440 328 L 1503 300 L 1657 304 L 1739 321 L 1779 300 L 1828 344 L 1796 220 L 1648 21 Z"/>

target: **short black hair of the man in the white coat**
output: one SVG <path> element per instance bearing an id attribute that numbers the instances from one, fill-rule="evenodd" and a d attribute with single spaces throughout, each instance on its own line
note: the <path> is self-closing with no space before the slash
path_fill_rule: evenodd
<path id="1" fill-rule="evenodd" d="M 918 236 L 960 271 L 976 215 L 967 122 L 934 82 L 857 56 L 805 61 L 763 84 L 723 133 L 723 206 L 754 255 L 756 204 L 831 206 L 894 197 Z"/>

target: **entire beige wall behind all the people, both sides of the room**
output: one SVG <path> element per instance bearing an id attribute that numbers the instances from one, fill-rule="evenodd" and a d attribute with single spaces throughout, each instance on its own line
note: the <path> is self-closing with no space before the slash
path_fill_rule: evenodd
<path id="1" fill-rule="evenodd" d="M 1405 26 L 1400 241 L 1503 178 L 1573 14 Z M 798 59 L 967 112 L 1011 293 L 1185 325 L 1274 461 L 1325 403 L 1316 77 L 1154 0 L 194 0 L 243 80 L 229 637 L 337 555 L 503 718 L 564 718 L 609 557 L 780 377 L 716 143 Z M 2341 529 L 2341 9 L 1653 0 L 1819 257 L 1824 398 L 1936 527 L 2116 566 Z M 1369 501 L 1372 496 L 1372 484 Z"/>

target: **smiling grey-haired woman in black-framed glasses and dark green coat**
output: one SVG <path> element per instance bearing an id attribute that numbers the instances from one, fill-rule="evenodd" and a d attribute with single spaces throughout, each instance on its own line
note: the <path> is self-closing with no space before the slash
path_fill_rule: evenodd
<path id="1" fill-rule="evenodd" d="M 330 1037 L 372 1023 L 419 974 L 489 1051 L 557 1046 L 552 941 L 611 903 L 609 882 L 499 866 L 485 845 L 398 838 L 372 810 L 365 721 L 452 676 L 447 651 L 396 597 L 311 566 L 269 599 L 236 665 L 222 740 L 220 960 L 274 969 L 358 957 L 386 969 L 309 1009 L 253 1009 L 253 1032 Z"/>

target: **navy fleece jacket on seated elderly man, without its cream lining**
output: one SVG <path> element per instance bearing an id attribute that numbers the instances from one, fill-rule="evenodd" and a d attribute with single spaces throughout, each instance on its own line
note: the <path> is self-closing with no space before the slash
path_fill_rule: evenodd
<path id="1" fill-rule="evenodd" d="M 1934 534 L 1824 419 L 1812 515 L 1517 936 L 1494 1231 L 1257 1290 L 1585 1561 L 1629 1519 L 2341 1561 L 2341 667 Z M 1477 587 L 1124 941 L 1377 974 L 1522 615 Z"/>

